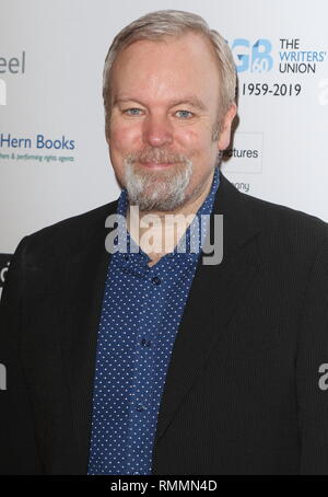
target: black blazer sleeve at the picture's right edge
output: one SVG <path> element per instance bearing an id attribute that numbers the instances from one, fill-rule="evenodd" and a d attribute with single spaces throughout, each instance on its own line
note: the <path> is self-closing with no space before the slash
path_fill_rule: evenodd
<path id="1" fill-rule="evenodd" d="M 328 474 L 327 233 L 312 266 L 298 328 L 296 389 L 302 475 Z"/>

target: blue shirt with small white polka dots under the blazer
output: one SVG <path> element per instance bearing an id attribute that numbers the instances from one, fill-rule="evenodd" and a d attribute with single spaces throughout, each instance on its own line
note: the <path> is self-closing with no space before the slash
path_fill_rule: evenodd
<path id="1" fill-rule="evenodd" d="M 211 212 L 218 187 L 216 166 L 197 216 Z M 127 206 L 124 188 L 117 213 L 126 216 Z M 131 251 L 137 245 L 129 232 L 128 253 L 110 257 L 97 338 L 90 475 L 151 474 L 165 377 L 199 257 L 190 251 L 201 242 L 198 233 L 195 241 L 195 219 L 174 252 L 153 266 L 140 247 Z M 201 230 L 207 232 L 207 222 Z M 179 253 L 184 243 L 187 252 Z"/>

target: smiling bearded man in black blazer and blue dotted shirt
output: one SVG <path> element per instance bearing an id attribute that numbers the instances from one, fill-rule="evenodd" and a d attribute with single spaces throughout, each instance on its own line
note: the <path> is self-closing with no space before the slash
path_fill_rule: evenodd
<path id="1" fill-rule="evenodd" d="M 195 14 L 154 12 L 114 39 L 104 103 L 121 195 L 16 248 L 2 473 L 328 474 L 328 229 L 219 171 L 235 82 L 227 44 Z"/>

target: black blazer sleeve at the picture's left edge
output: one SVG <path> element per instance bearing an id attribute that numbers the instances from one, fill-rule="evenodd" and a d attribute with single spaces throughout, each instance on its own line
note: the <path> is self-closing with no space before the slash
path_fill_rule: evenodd
<path id="1" fill-rule="evenodd" d="M 0 301 L 0 474 L 42 474 L 33 416 L 20 362 L 25 236 L 12 257 Z"/>

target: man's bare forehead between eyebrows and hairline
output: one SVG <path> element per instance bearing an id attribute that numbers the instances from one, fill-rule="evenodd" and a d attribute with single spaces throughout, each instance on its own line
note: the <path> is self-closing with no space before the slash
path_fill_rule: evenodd
<path id="1" fill-rule="evenodd" d="M 174 100 L 195 94 L 216 104 L 219 69 L 210 42 L 196 33 L 138 41 L 116 58 L 112 99 Z"/>

